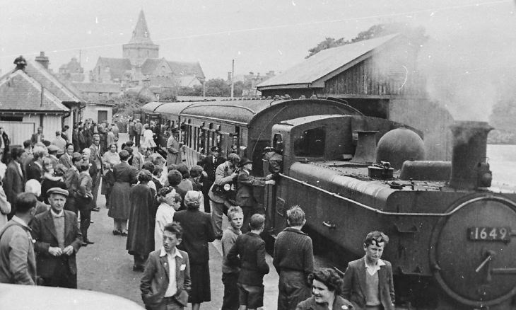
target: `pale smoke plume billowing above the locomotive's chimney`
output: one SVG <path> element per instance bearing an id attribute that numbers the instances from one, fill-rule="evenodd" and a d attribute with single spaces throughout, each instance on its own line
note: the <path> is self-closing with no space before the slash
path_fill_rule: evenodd
<path id="1" fill-rule="evenodd" d="M 430 99 L 455 120 L 488 121 L 500 100 L 515 97 L 516 16 L 511 3 L 433 16 L 418 71 Z"/>

